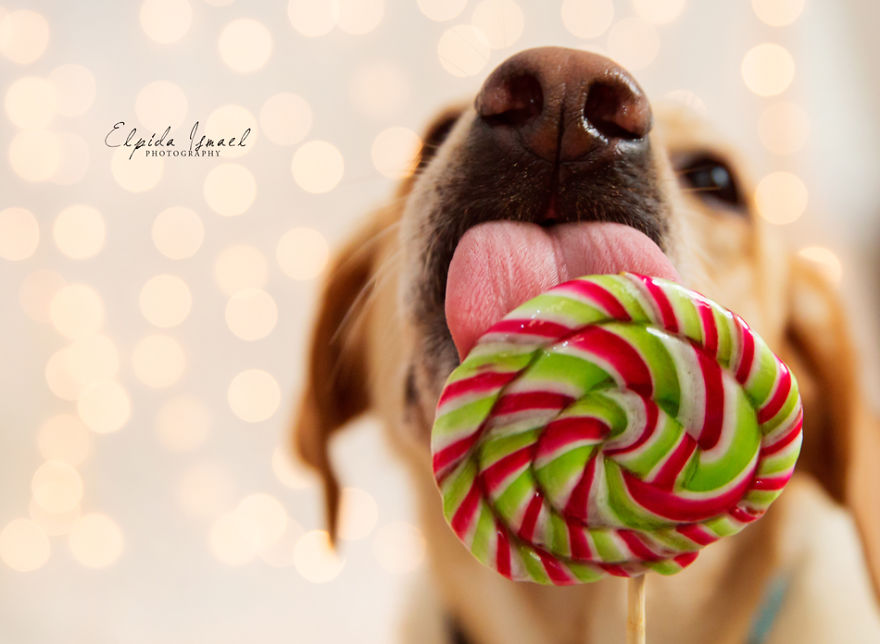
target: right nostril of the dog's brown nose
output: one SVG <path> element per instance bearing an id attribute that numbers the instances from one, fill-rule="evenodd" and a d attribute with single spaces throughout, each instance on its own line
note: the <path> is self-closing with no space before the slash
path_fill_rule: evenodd
<path id="1" fill-rule="evenodd" d="M 651 108 L 637 88 L 624 82 L 597 81 L 590 86 L 584 119 L 603 136 L 636 140 L 651 130 Z"/>

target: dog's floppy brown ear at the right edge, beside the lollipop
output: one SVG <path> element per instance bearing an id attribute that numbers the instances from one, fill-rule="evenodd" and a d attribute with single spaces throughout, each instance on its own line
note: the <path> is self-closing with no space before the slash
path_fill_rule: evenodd
<path id="1" fill-rule="evenodd" d="M 800 258 L 791 267 L 789 298 L 786 359 L 804 401 L 798 469 L 849 506 L 880 593 L 880 424 L 861 390 L 845 310 L 824 276 Z"/>

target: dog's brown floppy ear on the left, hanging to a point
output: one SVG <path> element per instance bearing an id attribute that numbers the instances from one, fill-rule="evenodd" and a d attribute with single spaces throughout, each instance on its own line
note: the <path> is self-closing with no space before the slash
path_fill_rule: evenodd
<path id="1" fill-rule="evenodd" d="M 306 362 L 305 388 L 294 416 L 294 450 L 318 471 L 330 538 L 335 539 L 339 483 L 329 458 L 332 434 L 367 411 L 363 310 L 376 260 L 378 218 L 337 253 L 321 288 Z"/>

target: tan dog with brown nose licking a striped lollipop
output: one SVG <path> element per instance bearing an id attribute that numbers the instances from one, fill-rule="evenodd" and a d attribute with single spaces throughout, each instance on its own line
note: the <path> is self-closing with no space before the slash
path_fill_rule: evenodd
<path id="1" fill-rule="evenodd" d="M 338 429 L 377 414 L 408 467 L 445 632 L 416 628 L 405 641 L 623 639 L 622 580 L 502 578 L 446 526 L 431 475 L 446 377 L 488 325 L 587 261 L 604 269 L 592 272 L 671 271 L 737 311 L 791 366 L 805 406 L 795 476 L 766 517 L 681 573 L 649 579 L 650 640 L 880 642 L 880 426 L 858 391 L 835 289 L 756 216 L 744 168 L 709 125 L 652 107 L 614 62 L 527 50 L 473 104 L 437 117 L 415 171 L 340 250 L 292 435 L 321 474 L 331 534 Z M 460 259 L 465 243 L 480 249 L 486 275 Z M 560 257 L 572 244 L 587 244 L 586 259 Z"/>

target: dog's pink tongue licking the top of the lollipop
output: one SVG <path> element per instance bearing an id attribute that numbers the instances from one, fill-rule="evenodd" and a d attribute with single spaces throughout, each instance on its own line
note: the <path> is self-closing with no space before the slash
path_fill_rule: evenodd
<path id="1" fill-rule="evenodd" d="M 623 224 L 541 228 L 493 221 L 471 228 L 455 249 L 446 284 L 446 324 L 459 357 L 495 322 L 550 287 L 621 271 L 679 279 L 653 241 Z"/>

